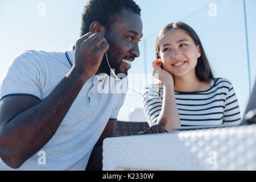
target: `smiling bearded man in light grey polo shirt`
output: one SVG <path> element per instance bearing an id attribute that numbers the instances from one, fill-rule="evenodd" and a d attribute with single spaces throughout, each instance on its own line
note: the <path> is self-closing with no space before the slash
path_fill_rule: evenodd
<path id="1" fill-rule="evenodd" d="M 98 75 L 110 75 L 105 52 L 115 74 L 127 75 L 139 57 L 140 13 L 133 0 L 90 0 L 75 47 L 15 57 L 0 89 L 0 169 L 85 169 L 125 99 L 97 90 Z"/>

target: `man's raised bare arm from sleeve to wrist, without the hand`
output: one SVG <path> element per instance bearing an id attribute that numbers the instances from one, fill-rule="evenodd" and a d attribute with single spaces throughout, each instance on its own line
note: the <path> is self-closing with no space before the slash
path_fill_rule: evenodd
<path id="1" fill-rule="evenodd" d="M 0 156 L 8 166 L 20 167 L 55 134 L 85 78 L 63 78 L 40 102 L 32 96 L 7 96 L 0 101 Z"/>

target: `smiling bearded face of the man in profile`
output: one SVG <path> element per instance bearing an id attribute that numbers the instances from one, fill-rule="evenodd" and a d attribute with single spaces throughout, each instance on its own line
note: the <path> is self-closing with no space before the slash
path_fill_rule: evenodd
<path id="1" fill-rule="evenodd" d="M 135 57 L 139 57 L 138 42 L 142 38 L 141 16 L 133 11 L 123 9 L 121 17 L 108 28 L 105 38 L 109 43 L 107 52 L 110 67 L 115 69 L 115 74 L 124 73 L 131 68 Z M 104 55 L 99 68 L 100 72 L 110 75 L 110 68 Z"/>

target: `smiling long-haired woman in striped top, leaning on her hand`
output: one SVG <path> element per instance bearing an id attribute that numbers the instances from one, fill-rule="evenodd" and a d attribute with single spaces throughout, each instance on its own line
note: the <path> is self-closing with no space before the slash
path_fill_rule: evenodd
<path id="1" fill-rule="evenodd" d="M 168 118 L 167 131 L 180 126 L 241 123 L 231 82 L 213 77 L 201 41 L 191 27 L 182 22 L 164 27 L 156 40 L 156 58 L 152 68 L 159 84 L 147 86 L 143 100 L 150 126 L 164 116 Z"/>

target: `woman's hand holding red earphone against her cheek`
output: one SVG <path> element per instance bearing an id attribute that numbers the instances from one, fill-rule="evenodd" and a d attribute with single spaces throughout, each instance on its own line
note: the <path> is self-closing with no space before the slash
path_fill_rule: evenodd
<path id="1" fill-rule="evenodd" d="M 174 77 L 171 75 L 171 73 L 167 72 L 162 68 L 159 68 L 161 63 L 162 61 L 160 59 L 156 59 L 152 62 L 152 75 L 158 78 L 158 80 L 162 81 L 163 83 L 166 81 L 171 81 L 172 83 L 174 83 Z"/>

